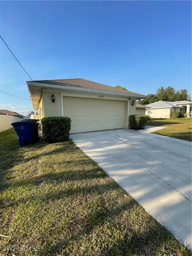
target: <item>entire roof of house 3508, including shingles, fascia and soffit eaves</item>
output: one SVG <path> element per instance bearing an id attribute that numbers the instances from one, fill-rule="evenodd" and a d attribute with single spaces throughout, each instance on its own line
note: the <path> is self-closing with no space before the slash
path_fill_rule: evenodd
<path id="1" fill-rule="evenodd" d="M 82 78 L 27 81 L 33 108 L 38 109 L 42 90 L 103 94 L 133 99 L 148 98 L 146 95 L 96 83 Z M 54 93 L 54 92 L 53 92 Z"/>

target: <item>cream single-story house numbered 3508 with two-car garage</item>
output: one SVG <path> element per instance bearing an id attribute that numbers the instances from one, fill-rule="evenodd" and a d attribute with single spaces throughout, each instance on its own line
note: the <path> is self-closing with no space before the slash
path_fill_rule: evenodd
<path id="1" fill-rule="evenodd" d="M 27 86 L 39 119 L 70 117 L 71 133 L 127 128 L 135 101 L 147 98 L 81 78 L 27 81 Z"/>

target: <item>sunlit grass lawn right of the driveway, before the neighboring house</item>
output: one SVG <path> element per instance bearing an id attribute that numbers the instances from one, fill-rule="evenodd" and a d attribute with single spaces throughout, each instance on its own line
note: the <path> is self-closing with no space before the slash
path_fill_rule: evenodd
<path id="1" fill-rule="evenodd" d="M 191 120 L 191 118 L 151 118 L 147 121 L 147 125 L 167 127 L 153 133 L 191 141 Z"/>

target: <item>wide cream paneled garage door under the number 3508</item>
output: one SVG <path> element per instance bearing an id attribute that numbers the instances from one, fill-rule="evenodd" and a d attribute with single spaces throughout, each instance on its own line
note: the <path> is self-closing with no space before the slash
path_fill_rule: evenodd
<path id="1" fill-rule="evenodd" d="M 70 133 L 125 128 L 125 101 L 63 97 L 63 110 Z"/>

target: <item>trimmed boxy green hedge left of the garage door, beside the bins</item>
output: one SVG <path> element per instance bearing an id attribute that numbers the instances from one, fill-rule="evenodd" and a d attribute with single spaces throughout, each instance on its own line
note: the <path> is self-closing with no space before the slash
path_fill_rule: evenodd
<path id="1" fill-rule="evenodd" d="M 64 141 L 69 137 L 71 118 L 62 116 L 44 117 L 41 119 L 42 134 L 46 141 Z"/>

